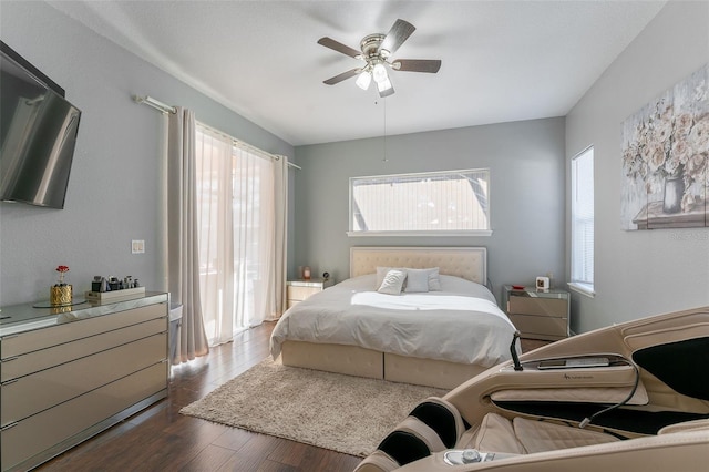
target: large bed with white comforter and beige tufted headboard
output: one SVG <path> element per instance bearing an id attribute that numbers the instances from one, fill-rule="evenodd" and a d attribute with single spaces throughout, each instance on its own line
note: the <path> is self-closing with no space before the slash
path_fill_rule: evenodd
<path id="1" fill-rule="evenodd" d="M 271 355 L 286 366 L 452 389 L 510 359 L 515 328 L 484 286 L 486 256 L 484 247 L 352 247 L 350 278 L 288 309 Z M 378 267 L 438 268 L 441 290 L 380 294 Z"/>

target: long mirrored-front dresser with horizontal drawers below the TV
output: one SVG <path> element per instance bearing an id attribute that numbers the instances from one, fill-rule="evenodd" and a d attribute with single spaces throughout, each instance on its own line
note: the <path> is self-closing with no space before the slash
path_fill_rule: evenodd
<path id="1" fill-rule="evenodd" d="M 167 294 L 0 311 L 2 471 L 29 470 L 167 396 Z"/>

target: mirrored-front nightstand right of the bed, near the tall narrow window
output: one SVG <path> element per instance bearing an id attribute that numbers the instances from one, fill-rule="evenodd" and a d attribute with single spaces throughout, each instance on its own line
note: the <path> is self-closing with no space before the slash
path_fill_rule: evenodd
<path id="1" fill-rule="evenodd" d="M 505 285 L 504 307 L 523 338 L 558 340 L 568 337 L 571 295 L 559 289 L 537 291 L 534 287 L 514 289 Z"/>

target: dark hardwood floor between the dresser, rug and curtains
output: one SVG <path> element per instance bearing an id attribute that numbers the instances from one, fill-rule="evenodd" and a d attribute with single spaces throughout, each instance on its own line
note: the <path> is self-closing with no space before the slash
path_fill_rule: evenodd
<path id="1" fill-rule="evenodd" d="M 268 356 L 273 322 L 173 367 L 169 394 L 38 469 L 49 471 L 351 471 L 360 458 L 179 414 Z M 545 343 L 523 340 L 523 350 Z"/>

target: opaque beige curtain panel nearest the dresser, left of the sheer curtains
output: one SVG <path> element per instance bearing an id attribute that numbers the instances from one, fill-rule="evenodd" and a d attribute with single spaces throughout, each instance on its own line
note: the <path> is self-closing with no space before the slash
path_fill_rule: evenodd
<path id="1" fill-rule="evenodd" d="M 167 124 L 167 287 L 182 305 L 182 326 L 173 363 L 205 356 L 209 347 L 199 298 L 196 226 L 195 115 L 177 107 Z"/>

